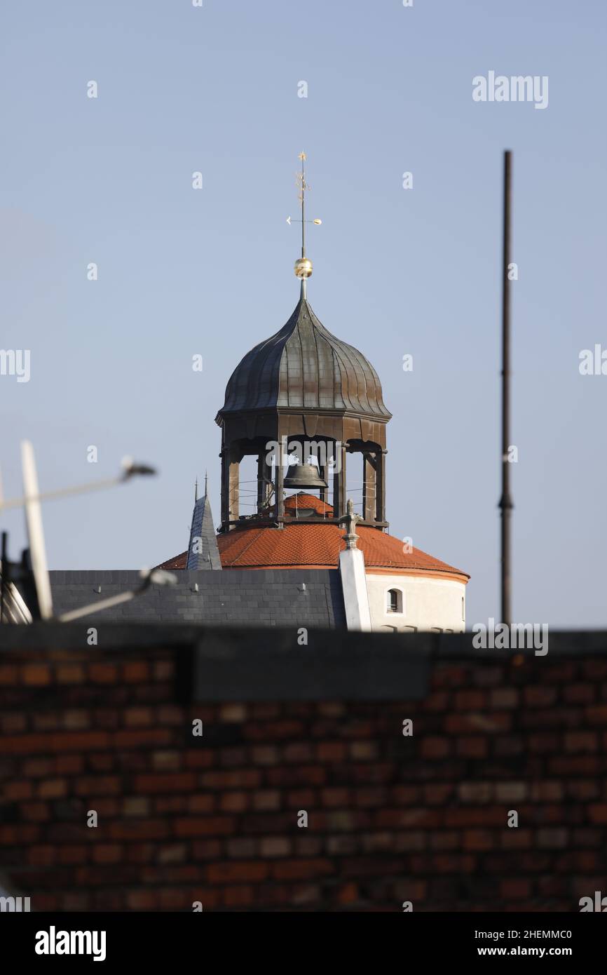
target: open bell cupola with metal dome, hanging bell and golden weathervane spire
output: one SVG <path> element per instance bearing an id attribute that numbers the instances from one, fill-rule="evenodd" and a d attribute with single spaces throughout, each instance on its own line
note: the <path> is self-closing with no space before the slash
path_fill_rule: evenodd
<path id="1" fill-rule="evenodd" d="M 318 491 L 324 510 L 306 522 L 338 523 L 346 514 L 346 474 L 359 454 L 360 524 L 383 530 L 386 521 L 386 424 L 392 413 L 367 359 L 326 330 L 306 293 L 312 261 L 306 255 L 305 154 L 301 153 L 301 257 L 295 275 L 299 301 L 283 329 L 252 348 L 232 373 L 216 422 L 221 427 L 221 532 L 239 526 L 282 527 L 285 491 Z M 288 218 L 287 222 L 291 222 Z M 256 514 L 240 515 L 240 464 L 257 461 Z M 294 466 L 286 467 L 289 458 Z"/>

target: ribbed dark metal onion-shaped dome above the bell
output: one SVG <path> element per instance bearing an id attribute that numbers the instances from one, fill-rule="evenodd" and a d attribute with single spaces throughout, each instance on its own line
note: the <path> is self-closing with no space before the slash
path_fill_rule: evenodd
<path id="1" fill-rule="evenodd" d="M 226 386 L 224 413 L 276 408 L 338 409 L 389 420 L 368 359 L 327 331 L 305 297 L 286 325 L 247 352 Z"/>

